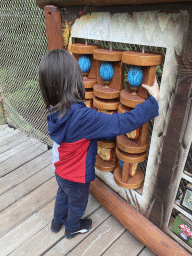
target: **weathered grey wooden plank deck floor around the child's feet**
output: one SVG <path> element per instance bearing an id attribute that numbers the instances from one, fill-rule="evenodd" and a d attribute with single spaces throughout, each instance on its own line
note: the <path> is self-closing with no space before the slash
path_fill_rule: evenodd
<path id="1" fill-rule="evenodd" d="M 0 255 L 152 256 L 91 195 L 90 232 L 72 240 L 50 231 L 57 184 L 51 150 L 19 130 L 0 126 Z"/>

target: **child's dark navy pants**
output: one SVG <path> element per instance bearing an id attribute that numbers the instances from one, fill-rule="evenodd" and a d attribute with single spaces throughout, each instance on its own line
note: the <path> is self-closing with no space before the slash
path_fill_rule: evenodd
<path id="1" fill-rule="evenodd" d="M 64 224 L 70 231 L 80 227 L 88 203 L 90 183 L 76 183 L 64 180 L 55 174 L 59 185 L 54 210 L 54 222 Z"/>

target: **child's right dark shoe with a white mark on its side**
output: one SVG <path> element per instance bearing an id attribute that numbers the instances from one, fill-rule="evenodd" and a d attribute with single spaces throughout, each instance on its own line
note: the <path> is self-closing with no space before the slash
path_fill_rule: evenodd
<path id="1" fill-rule="evenodd" d="M 76 235 L 87 233 L 91 227 L 92 227 L 91 219 L 81 219 L 81 226 L 76 231 L 69 231 L 65 229 L 65 237 L 67 239 L 71 239 Z"/>

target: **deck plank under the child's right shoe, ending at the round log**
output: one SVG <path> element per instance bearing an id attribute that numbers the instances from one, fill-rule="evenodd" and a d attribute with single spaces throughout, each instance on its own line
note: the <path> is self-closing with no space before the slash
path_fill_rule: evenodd
<path id="1" fill-rule="evenodd" d="M 65 237 L 59 241 L 54 247 L 52 247 L 47 253 L 43 254 L 46 256 L 63 256 L 68 254 L 73 248 L 77 246 L 77 244 L 81 243 L 83 240 L 90 236 L 90 233 L 97 229 L 103 221 L 105 221 L 110 216 L 110 213 L 106 211 L 104 207 L 100 207 L 97 211 L 90 215 L 90 218 L 93 221 L 92 229 L 85 234 L 81 234 L 79 236 L 74 237 L 71 240 L 66 239 Z M 76 255 L 80 255 L 79 253 Z"/>

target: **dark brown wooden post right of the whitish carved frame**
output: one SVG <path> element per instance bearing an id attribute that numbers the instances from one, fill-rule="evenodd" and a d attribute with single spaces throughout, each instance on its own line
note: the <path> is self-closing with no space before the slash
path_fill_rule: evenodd
<path id="1" fill-rule="evenodd" d="M 175 92 L 175 100 L 169 119 L 167 133 L 164 135 L 164 144 L 161 163 L 157 175 L 157 187 L 152 199 L 152 210 L 149 219 L 158 227 L 162 227 L 166 211 L 167 198 L 174 193 L 172 183 L 174 182 L 175 170 L 178 163 L 178 153 L 182 142 L 182 134 L 185 129 L 184 118 L 187 105 L 191 98 L 192 83 L 192 9 L 190 9 L 190 20 L 187 40 L 183 56 L 176 54 L 177 62 L 180 64 L 180 77 Z M 184 146 L 184 145 L 183 145 Z M 174 198 L 172 197 L 172 200 Z"/>

